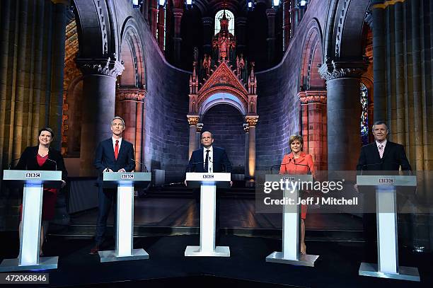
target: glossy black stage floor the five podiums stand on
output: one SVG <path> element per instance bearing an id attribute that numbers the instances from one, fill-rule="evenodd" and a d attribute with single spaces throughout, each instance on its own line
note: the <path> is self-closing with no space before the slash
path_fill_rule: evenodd
<path id="1" fill-rule="evenodd" d="M 2 233 L 1 258 L 18 253 L 18 235 Z M 50 236 L 46 255 L 59 255 L 59 267 L 50 271 L 50 286 L 79 287 L 432 287 L 431 255 L 400 251 L 400 265 L 419 267 L 422 282 L 405 282 L 358 276 L 362 243 L 307 241 L 311 254 L 321 255 L 316 267 L 266 263 L 265 257 L 280 250 L 272 238 L 222 236 L 230 246 L 230 258 L 184 257 L 185 246 L 197 245 L 198 236 L 134 238 L 134 248 L 144 248 L 149 260 L 100 263 L 88 255 L 91 240 Z M 112 243 L 111 243 L 112 245 Z M 107 248 L 111 246 L 108 243 Z M 287 286 L 286 286 L 287 287 Z"/>

